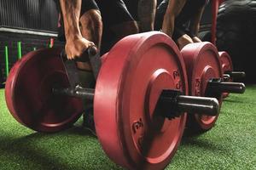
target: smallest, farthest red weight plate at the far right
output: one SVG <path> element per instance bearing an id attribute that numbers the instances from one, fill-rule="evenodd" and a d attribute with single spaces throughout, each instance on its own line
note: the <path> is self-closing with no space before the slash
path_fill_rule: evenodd
<path id="1" fill-rule="evenodd" d="M 226 71 L 233 71 L 233 65 L 232 65 L 232 60 L 230 58 L 230 55 L 226 52 L 219 52 L 219 59 L 220 59 L 220 63 L 222 66 L 222 70 L 223 72 Z M 230 80 L 230 82 L 232 82 L 232 80 Z M 223 97 L 226 98 L 229 96 L 229 93 L 224 93 Z"/>

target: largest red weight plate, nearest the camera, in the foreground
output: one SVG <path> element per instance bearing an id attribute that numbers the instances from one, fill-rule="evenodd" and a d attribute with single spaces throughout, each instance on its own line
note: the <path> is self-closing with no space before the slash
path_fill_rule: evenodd
<path id="1" fill-rule="evenodd" d="M 96 133 L 103 150 L 129 169 L 163 169 L 183 135 L 186 115 L 154 115 L 162 89 L 187 94 L 183 59 L 160 32 L 125 37 L 108 53 L 96 82 Z"/>

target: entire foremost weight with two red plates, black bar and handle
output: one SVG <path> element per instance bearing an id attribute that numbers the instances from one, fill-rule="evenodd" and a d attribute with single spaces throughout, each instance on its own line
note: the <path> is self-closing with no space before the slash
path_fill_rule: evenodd
<path id="1" fill-rule="evenodd" d="M 72 126 L 94 102 L 96 134 L 103 150 L 129 169 L 163 169 L 174 156 L 186 113 L 218 115 L 218 100 L 188 96 L 185 65 L 177 46 L 160 32 L 125 37 L 105 55 L 89 48 L 96 88 L 81 88 L 74 61 L 61 49 L 22 57 L 6 82 L 6 102 L 15 119 L 41 132 Z"/>

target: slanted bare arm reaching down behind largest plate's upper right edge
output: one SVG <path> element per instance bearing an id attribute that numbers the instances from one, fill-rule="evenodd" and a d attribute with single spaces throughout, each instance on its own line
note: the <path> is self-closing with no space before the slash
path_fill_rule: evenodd
<path id="1" fill-rule="evenodd" d="M 172 37 L 174 30 L 174 21 L 178 14 L 180 14 L 187 0 L 171 0 L 166 9 L 166 14 L 163 20 L 162 31 L 168 36 Z"/>

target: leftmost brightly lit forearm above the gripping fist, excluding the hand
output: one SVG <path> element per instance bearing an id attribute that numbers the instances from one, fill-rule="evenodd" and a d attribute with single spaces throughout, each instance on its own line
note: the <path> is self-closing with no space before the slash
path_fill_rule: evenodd
<path id="1" fill-rule="evenodd" d="M 81 36 L 79 18 L 81 0 L 60 0 L 61 12 L 64 20 L 65 36 L 67 39 Z"/>

